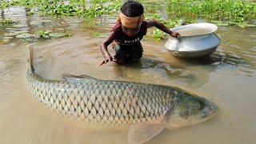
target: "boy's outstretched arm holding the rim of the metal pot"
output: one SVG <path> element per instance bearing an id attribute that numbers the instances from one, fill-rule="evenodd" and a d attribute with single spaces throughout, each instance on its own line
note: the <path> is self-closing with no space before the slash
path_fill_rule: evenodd
<path id="1" fill-rule="evenodd" d="M 147 21 L 147 28 L 150 28 L 153 26 L 157 27 L 159 30 L 166 32 L 166 34 L 170 34 L 174 38 L 177 38 L 180 35 L 175 31 L 169 30 L 162 22 L 158 22 L 155 20 Z"/>

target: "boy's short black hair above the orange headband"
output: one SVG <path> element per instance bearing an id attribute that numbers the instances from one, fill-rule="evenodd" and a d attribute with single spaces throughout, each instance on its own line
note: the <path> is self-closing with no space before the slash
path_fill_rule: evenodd
<path id="1" fill-rule="evenodd" d="M 144 13 L 144 8 L 141 3 L 128 0 L 122 5 L 121 11 L 127 17 L 138 17 Z"/>

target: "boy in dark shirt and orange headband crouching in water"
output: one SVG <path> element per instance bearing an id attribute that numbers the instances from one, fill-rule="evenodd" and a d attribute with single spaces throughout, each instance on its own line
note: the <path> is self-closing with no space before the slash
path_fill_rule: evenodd
<path id="1" fill-rule="evenodd" d="M 122 64 L 138 62 L 142 58 L 143 52 L 140 40 L 146 35 L 146 30 L 150 27 L 155 26 L 174 38 L 178 37 L 179 34 L 177 32 L 170 31 L 161 22 L 155 20 L 145 21 L 143 13 L 144 8 L 139 2 L 129 0 L 122 5 L 117 24 L 112 28 L 110 36 L 100 46 L 105 58 L 102 64 L 106 62 Z M 113 42 L 116 52 L 114 59 L 107 50 L 107 46 L 111 42 Z"/>

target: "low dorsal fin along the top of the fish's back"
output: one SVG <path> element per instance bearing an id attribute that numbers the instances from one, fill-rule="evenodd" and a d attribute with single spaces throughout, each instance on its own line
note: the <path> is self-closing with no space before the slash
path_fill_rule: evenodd
<path id="1" fill-rule="evenodd" d="M 88 80 L 98 80 L 97 78 L 93 78 L 88 75 L 73 75 L 73 74 L 62 74 L 62 78 L 66 82 L 70 82 L 70 83 L 86 82 Z"/>

